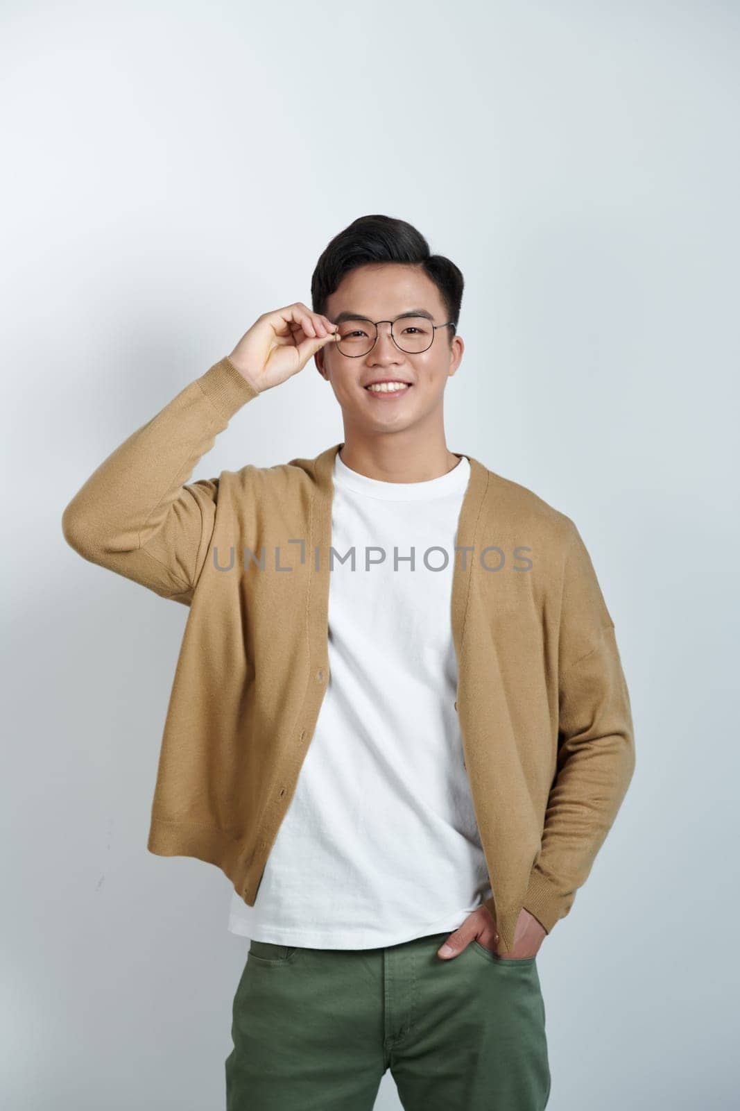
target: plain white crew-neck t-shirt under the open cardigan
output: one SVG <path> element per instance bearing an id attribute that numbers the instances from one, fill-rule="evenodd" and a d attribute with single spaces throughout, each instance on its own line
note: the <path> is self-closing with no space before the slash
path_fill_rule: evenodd
<path id="1" fill-rule="evenodd" d="M 330 564 L 327 689 L 254 907 L 232 893 L 232 933 L 374 949 L 455 930 L 491 893 L 455 710 L 469 473 L 463 457 L 426 482 L 382 482 L 337 452 L 332 548 L 354 547 L 355 568 Z"/>

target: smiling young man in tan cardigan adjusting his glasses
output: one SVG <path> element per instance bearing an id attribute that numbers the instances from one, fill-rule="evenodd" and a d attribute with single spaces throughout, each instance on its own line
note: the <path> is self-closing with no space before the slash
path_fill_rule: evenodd
<path id="1" fill-rule="evenodd" d="M 448 449 L 463 276 L 355 220 L 64 511 L 190 609 L 149 848 L 209 861 L 251 939 L 231 1111 L 539 1111 L 536 967 L 630 782 L 614 622 L 574 522 Z M 344 440 L 190 482 L 311 358 Z M 249 424 L 249 420 L 247 420 Z"/>

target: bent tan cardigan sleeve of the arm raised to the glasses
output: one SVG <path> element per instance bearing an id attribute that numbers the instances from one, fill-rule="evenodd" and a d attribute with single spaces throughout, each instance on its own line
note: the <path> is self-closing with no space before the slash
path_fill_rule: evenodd
<path id="1" fill-rule="evenodd" d="M 84 559 L 190 605 L 215 524 L 219 479 L 189 484 L 231 417 L 259 393 L 225 357 L 108 457 L 62 514 Z"/>

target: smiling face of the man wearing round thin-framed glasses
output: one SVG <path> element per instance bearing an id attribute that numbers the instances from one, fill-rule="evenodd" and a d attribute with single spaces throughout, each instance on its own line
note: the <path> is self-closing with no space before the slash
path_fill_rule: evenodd
<path id="1" fill-rule="evenodd" d="M 328 298 L 325 316 L 334 323 L 342 313 L 366 320 L 395 320 L 402 313 L 424 310 L 432 322 L 444 324 L 448 317 L 435 283 L 417 267 L 401 263 L 373 263 L 351 271 Z M 345 328 L 352 328 L 352 321 Z M 357 323 L 358 329 L 362 324 Z M 403 342 L 404 321 L 395 332 Z M 365 328 L 366 330 L 366 328 Z M 353 358 L 343 354 L 335 342 L 316 352 L 322 376 L 332 384 L 342 407 L 345 430 L 396 432 L 419 424 L 432 413 L 442 414 L 447 379 L 463 357 L 463 340 L 452 328 L 438 328 L 427 351 L 407 353 L 391 338 L 391 326 L 377 326 L 377 341 L 368 354 Z M 371 339 L 373 329 L 371 329 Z M 410 331 L 409 331 L 410 334 Z M 408 383 L 398 393 L 374 393 L 369 382 L 388 379 Z"/>

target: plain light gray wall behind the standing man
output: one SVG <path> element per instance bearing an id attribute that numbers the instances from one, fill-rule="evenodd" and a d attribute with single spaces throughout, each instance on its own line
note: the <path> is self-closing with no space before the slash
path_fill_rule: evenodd
<path id="1" fill-rule="evenodd" d="M 61 513 L 369 212 L 463 269 L 448 446 L 574 518 L 632 698 L 632 785 L 540 950 L 548 1111 L 737 1105 L 738 30 L 729 2 L 3 6 L 4 1107 L 223 1107 L 231 887 L 146 851 L 186 611 Z M 194 478 L 341 440 L 312 361 Z"/>

